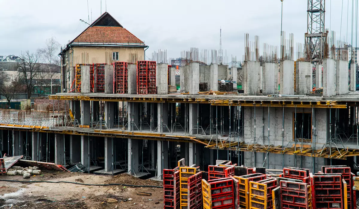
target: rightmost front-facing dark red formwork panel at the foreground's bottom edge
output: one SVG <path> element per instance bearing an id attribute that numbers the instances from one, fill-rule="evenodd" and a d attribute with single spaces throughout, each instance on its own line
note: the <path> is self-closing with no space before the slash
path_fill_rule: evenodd
<path id="1" fill-rule="evenodd" d="M 314 174 L 313 184 L 315 190 L 316 209 L 343 208 L 341 179 L 341 175 L 336 174 Z"/>

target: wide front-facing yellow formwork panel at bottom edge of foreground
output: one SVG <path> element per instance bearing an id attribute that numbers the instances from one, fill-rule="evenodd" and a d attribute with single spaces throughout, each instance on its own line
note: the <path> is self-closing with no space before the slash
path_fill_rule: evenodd
<path id="1" fill-rule="evenodd" d="M 249 182 L 249 208 L 248 209 L 266 209 L 267 208 L 267 185 L 258 182 Z"/>

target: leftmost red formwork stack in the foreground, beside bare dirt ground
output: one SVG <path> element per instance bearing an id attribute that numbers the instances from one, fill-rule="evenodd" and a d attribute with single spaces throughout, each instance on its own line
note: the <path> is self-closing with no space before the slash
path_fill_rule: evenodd
<path id="1" fill-rule="evenodd" d="M 180 171 L 163 169 L 163 200 L 164 209 L 178 209 L 180 207 Z"/>

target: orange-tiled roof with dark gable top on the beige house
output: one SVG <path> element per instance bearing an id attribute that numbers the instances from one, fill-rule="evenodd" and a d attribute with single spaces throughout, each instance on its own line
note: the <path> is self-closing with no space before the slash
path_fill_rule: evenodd
<path id="1" fill-rule="evenodd" d="M 97 18 L 78 37 L 67 44 L 67 47 L 101 45 L 146 47 L 143 41 L 123 28 L 108 12 Z"/>

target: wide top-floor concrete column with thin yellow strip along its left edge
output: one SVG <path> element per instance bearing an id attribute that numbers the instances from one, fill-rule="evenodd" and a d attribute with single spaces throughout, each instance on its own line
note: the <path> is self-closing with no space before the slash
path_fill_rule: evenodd
<path id="1" fill-rule="evenodd" d="M 295 94 L 309 94 L 312 91 L 312 82 L 312 63 L 295 62 Z"/>

